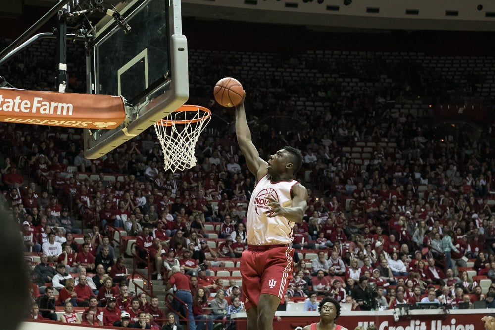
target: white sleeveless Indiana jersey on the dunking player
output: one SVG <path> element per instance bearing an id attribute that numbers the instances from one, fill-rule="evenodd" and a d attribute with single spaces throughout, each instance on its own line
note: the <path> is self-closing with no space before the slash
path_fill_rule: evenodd
<path id="1" fill-rule="evenodd" d="M 247 210 L 247 244 L 249 245 L 285 245 L 292 243 L 294 222 L 284 217 L 267 217 L 265 211 L 270 209 L 271 196 L 283 207 L 291 206 L 291 189 L 298 182 L 295 180 L 271 182 L 265 175 L 254 187 Z"/>

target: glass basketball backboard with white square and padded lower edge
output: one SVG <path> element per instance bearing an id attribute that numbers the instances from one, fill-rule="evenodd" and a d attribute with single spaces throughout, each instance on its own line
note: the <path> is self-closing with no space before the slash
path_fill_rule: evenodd
<path id="1" fill-rule="evenodd" d="M 139 135 L 189 97 L 180 0 L 130 0 L 116 10 L 130 31 L 110 16 L 96 25 L 86 57 L 88 93 L 124 96 L 127 118 L 113 130 L 85 130 L 89 159 Z"/>

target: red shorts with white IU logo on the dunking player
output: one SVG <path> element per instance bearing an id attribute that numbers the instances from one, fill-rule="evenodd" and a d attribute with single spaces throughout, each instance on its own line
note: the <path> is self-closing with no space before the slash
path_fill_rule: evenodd
<path id="1" fill-rule="evenodd" d="M 294 249 L 289 246 L 253 247 L 241 256 L 241 276 L 244 306 L 248 310 L 258 305 L 260 294 L 272 294 L 284 300 L 292 279 Z M 259 250 L 258 250 L 259 249 Z"/>

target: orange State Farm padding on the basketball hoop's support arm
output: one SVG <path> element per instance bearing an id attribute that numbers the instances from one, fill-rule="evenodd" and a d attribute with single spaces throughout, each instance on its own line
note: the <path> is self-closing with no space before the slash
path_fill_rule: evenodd
<path id="1" fill-rule="evenodd" d="M 120 96 L 0 89 L 0 121 L 112 129 L 125 119 Z"/>

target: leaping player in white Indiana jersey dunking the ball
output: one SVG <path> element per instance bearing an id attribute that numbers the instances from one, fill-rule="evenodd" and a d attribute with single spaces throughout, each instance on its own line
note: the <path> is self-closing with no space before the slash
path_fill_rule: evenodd
<path id="1" fill-rule="evenodd" d="M 247 211 L 247 250 L 240 267 L 242 291 L 247 329 L 272 330 L 275 311 L 292 278 L 292 226 L 302 223 L 307 190 L 293 180 L 302 164 L 299 150 L 287 146 L 271 155 L 268 162 L 259 157 L 247 126 L 245 96 L 236 106 L 236 134 L 257 184 Z"/>

